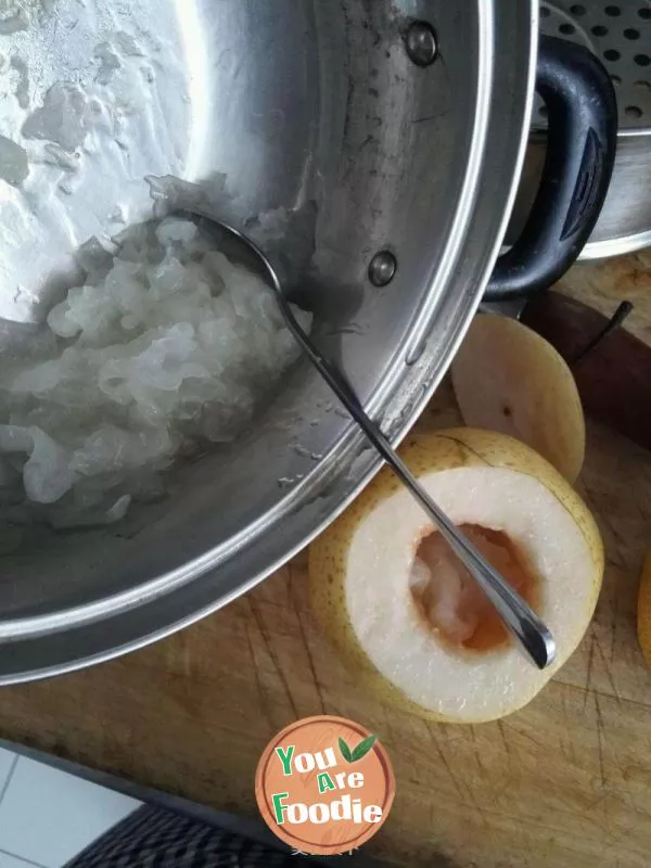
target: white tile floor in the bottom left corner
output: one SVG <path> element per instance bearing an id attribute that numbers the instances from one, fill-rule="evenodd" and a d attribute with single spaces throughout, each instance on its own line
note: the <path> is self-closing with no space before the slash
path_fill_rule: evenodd
<path id="1" fill-rule="evenodd" d="M 0 748 L 0 868 L 62 868 L 139 805 Z"/>

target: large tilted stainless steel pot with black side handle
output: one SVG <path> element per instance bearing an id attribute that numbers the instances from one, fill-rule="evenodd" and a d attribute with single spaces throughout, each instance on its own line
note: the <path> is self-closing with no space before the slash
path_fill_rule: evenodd
<path id="1" fill-rule="evenodd" d="M 79 244 L 146 216 L 144 176 L 179 176 L 250 229 L 286 209 L 285 266 L 320 340 L 385 432 L 404 435 L 498 256 L 528 136 L 536 2 L 17 9 L 0 21 L 11 110 L 0 132 L 26 158 L 0 141 L 4 352 L 69 279 Z M 614 129 L 608 77 L 588 56 L 542 52 L 539 85 L 563 123 L 494 294 L 548 283 L 597 218 Z M 167 497 L 116 528 L 4 528 L 0 681 L 104 660 L 224 605 L 376 470 L 299 366 L 238 443 L 177 467 Z"/>

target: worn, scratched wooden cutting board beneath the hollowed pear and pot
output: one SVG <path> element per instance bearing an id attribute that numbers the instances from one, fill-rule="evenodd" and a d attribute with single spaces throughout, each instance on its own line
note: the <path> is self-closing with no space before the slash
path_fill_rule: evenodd
<path id="1" fill-rule="evenodd" d="M 636 296 L 633 329 L 651 335 L 651 257 L 577 267 L 564 291 L 607 312 Z M 456 421 L 444 388 L 420 424 Z M 3 690 L 0 735 L 255 816 L 268 739 L 297 717 L 339 714 L 378 732 L 395 767 L 395 806 L 369 854 L 404 866 L 646 868 L 651 673 L 635 618 L 651 454 L 591 425 L 580 488 L 608 551 L 599 608 L 553 682 L 503 722 L 426 724 L 367 695 L 315 628 L 301 557 L 167 641 Z"/>

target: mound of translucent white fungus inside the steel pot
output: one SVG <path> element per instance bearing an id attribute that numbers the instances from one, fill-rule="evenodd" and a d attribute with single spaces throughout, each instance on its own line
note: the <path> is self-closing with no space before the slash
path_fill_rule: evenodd
<path id="1" fill-rule="evenodd" d="M 54 526 L 124 518 L 180 449 L 232 441 L 298 356 L 264 282 L 192 221 L 115 242 L 50 310 L 56 353 L 0 382 L 0 506 L 48 505 Z"/>

